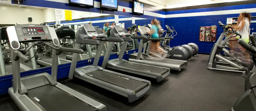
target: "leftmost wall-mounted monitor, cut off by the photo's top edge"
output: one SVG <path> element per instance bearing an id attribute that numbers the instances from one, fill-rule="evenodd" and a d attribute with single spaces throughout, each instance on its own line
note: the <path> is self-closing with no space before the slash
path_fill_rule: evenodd
<path id="1" fill-rule="evenodd" d="M 94 7 L 94 0 L 69 0 L 69 3 L 85 7 Z"/>

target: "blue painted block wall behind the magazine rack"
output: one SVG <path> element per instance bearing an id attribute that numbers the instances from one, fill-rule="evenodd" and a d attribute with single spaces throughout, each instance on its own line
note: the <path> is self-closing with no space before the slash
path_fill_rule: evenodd
<path id="1" fill-rule="evenodd" d="M 234 10 L 234 9 L 245 9 L 245 8 L 256 8 L 256 4 L 169 11 L 169 12 L 165 12 L 165 15 L 207 12 L 207 11 L 220 11 L 220 10 Z M 256 16 L 256 13 L 251 13 L 251 15 Z M 238 16 L 239 14 L 227 14 L 227 15 L 165 18 L 165 25 L 173 26 L 178 33 L 178 35 L 175 36 L 173 40 L 171 40 L 170 46 L 177 46 L 177 45 L 193 42 L 198 45 L 199 53 L 210 53 L 211 48 L 215 42 L 203 42 L 203 41 L 199 42 L 200 26 L 216 25 L 217 26 L 216 41 L 217 41 L 218 37 L 223 32 L 223 30 L 220 27 L 218 27 L 219 26 L 218 22 L 221 21 L 223 24 L 226 24 L 227 18 L 238 17 Z M 252 19 L 252 20 L 256 20 L 256 19 Z M 255 29 L 256 23 L 251 23 L 250 28 Z M 255 31 L 251 30 L 251 32 L 255 32 Z"/>

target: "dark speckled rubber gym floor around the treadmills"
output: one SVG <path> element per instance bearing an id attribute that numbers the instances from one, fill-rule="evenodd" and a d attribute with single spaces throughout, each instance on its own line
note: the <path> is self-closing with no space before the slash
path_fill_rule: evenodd
<path id="1" fill-rule="evenodd" d="M 229 111 L 244 92 L 244 78 L 241 73 L 208 70 L 208 58 L 198 55 L 161 83 L 151 80 L 151 91 L 134 103 L 79 79 L 61 83 L 106 105 L 109 111 Z M 19 110 L 8 94 L 1 97 L 0 110 Z"/>

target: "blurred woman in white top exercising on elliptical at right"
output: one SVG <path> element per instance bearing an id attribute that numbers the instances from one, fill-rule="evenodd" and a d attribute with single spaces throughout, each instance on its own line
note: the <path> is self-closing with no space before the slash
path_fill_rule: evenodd
<path id="1" fill-rule="evenodd" d="M 230 26 L 234 29 L 234 31 L 237 31 L 242 36 L 242 40 L 245 41 L 246 43 L 249 43 L 249 28 L 250 28 L 250 20 L 251 20 L 251 15 L 248 13 L 241 13 L 237 19 L 237 26 Z M 230 39 L 239 39 L 239 36 L 230 38 Z M 234 43 L 235 42 L 235 43 Z M 232 41 L 232 47 L 231 50 L 234 50 L 234 47 L 239 47 L 239 50 L 242 52 L 245 52 L 246 50 L 242 48 L 241 45 L 237 44 L 237 41 Z M 248 53 L 244 53 L 246 55 L 247 59 L 245 62 L 250 63 L 250 55 Z"/>

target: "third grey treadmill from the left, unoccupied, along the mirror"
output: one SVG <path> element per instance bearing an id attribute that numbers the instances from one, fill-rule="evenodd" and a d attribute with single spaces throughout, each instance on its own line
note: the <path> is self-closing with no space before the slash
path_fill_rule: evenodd
<path id="1" fill-rule="evenodd" d="M 143 41 L 147 42 L 152 39 L 147 39 L 145 36 L 132 36 L 127 30 L 121 28 L 120 26 L 114 26 L 111 29 L 110 34 L 111 34 L 111 38 L 124 39 L 124 43 L 118 58 L 108 60 L 110 56 L 110 52 L 114 45 L 113 42 L 109 43 L 107 53 L 105 54 L 105 57 L 101 66 L 102 68 L 107 67 L 114 70 L 120 70 L 120 71 L 130 72 L 130 73 L 141 75 L 141 76 L 155 78 L 157 82 L 163 81 L 165 78 L 168 77 L 168 75 L 170 74 L 169 68 L 142 64 L 142 63 L 135 63 L 135 62 L 131 62 L 123 59 L 124 53 L 126 52 L 126 54 L 128 54 L 128 51 L 125 51 L 125 50 L 129 41 L 132 41 L 132 39 L 141 39 L 141 40 L 144 39 Z M 164 39 L 154 39 L 154 40 L 164 40 Z"/>

